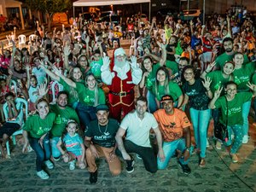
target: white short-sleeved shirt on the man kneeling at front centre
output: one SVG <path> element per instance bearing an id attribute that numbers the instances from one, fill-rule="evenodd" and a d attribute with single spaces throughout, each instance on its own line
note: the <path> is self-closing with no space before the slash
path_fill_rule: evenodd
<path id="1" fill-rule="evenodd" d="M 152 113 L 146 112 L 141 120 L 137 117 L 137 112 L 128 113 L 122 120 L 120 127 L 127 131 L 126 140 L 142 147 L 151 147 L 149 141 L 149 131 L 156 129 L 158 124 Z"/>

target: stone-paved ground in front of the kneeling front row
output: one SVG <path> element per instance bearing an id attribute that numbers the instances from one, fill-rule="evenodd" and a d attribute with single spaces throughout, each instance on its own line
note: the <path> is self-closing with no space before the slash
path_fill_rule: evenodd
<path id="1" fill-rule="evenodd" d="M 210 129 L 211 130 L 211 129 Z M 98 182 L 89 183 L 89 172 L 76 169 L 69 171 L 63 161 L 55 162 L 50 170 L 49 179 L 41 180 L 36 176 L 35 153 L 21 154 L 22 139 L 13 148 L 11 159 L 0 160 L 0 191 L 104 191 L 104 192 L 169 192 L 169 191 L 206 191 L 206 192 L 247 192 L 256 191 L 256 150 L 255 128 L 250 128 L 251 138 L 240 151 L 241 161 L 231 163 L 229 155 L 222 150 L 207 150 L 207 166 L 198 166 L 198 157 L 193 154 L 189 166 L 189 176 L 183 174 L 172 159 L 164 171 L 151 174 L 145 171 L 142 160 L 135 155 L 135 172 L 123 172 L 112 177 L 105 160 L 98 160 Z M 210 139 L 212 143 L 212 139 Z"/>

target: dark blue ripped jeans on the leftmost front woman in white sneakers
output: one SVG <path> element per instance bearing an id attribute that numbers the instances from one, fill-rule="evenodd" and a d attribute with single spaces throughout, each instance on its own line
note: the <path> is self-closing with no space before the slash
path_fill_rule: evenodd
<path id="1" fill-rule="evenodd" d="M 44 160 L 49 160 L 50 158 L 50 144 L 49 144 L 49 134 L 44 137 L 43 140 L 43 148 L 39 143 L 39 138 L 28 137 L 30 146 L 37 154 L 37 172 L 43 170 L 42 166 L 44 164 Z"/>

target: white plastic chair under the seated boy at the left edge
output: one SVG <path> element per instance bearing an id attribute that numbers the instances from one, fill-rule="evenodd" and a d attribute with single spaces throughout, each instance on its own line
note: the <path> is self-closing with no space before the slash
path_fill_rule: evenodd
<path id="1" fill-rule="evenodd" d="M 13 133 L 13 135 L 11 136 L 12 137 L 12 140 L 13 140 L 13 143 L 14 145 L 16 144 L 16 136 L 17 135 L 21 135 L 23 130 L 22 130 L 22 126 L 24 125 L 24 108 L 25 108 L 25 120 L 27 119 L 27 116 L 28 116 L 28 105 L 27 105 L 27 102 L 25 99 L 22 99 L 22 98 L 16 98 L 15 99 L 15 102 L 21 102 L 21 108 L 20 108 L 20 113 L 22 113 L 22 115 L 18 115 L 20 117 L 20 130 L 18 131 L 15 131 Z M 3 104 L 3 113 L 4 113 L 4 117 L 5 119 L 8 119 L 8 104 L 7 102 L 5 102 Z M 8 122 L 8 121 L 6 121 Z M 10 149 L 9 149 L 9 141 L 6 143 L 6 150 L 7 150 L 7 154 L 10 156 Z"/>

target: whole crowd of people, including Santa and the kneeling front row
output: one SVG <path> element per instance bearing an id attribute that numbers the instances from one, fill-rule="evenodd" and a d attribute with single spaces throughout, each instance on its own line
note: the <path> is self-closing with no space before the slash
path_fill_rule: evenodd
<path id="1" fill-rule="evenodd" d="M 254 27 L 247 17 L 229 15 L 206 23 L 172 16 L 164 26 L 156 18 L 145 25 L 128 18 L 120 26 L 81 20 L 52 33 L 37 23 L 28 49 L 13 41 L 10 51 L 2 44 L 2 157 L 8 157 L 9 137 L 22 128 L 22 152 L 34 150 L 42 179 L 49 178 L 46 167 L 64 160 L 70 170 L 87 167 L 90 183 L 96 183 L 96 158 L 104 157 L 116 176 L 120 160 L 134 171 L 131 153 L 148 172 L 166 169 L 177 157 L 189 174 L 191 154 L 198 154 L 199 166 L 207 165 L 213 119 L 229 130 L 226 141 L 216 139 L 216 148 L 225 146 L 238 162 L 256 95 Z M 120 38 L 135 42 L 131 55 Z M 28 101 L 25 122 L 19 98 Z"/>

